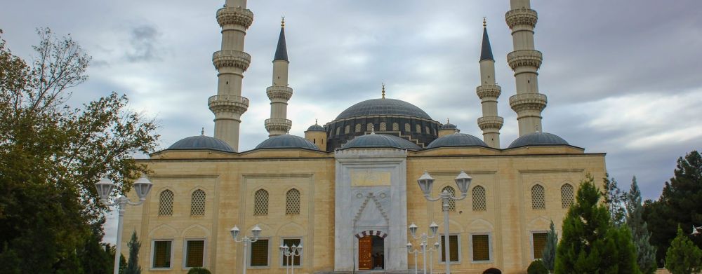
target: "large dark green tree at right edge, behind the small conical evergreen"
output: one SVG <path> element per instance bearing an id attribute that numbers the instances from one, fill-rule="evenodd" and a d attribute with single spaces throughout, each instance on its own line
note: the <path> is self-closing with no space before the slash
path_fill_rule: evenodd
<path id="1" fill-rule="evenodd" d="M 661 198 L 644 203 L 644 220 L 651 231 L 651 244 L 658 247 L 656 260 L 662 264 L 670 241 L 675 238 L 675 228 L 691 233 L 692 226 L 702 224 L 702 156 L 698 151 L 677 159 L 674 177 L 665 182 Z M 702 237 L 692 238 L 702 247 Z M 659 264 L 659 266 L 662 266 Z"/>

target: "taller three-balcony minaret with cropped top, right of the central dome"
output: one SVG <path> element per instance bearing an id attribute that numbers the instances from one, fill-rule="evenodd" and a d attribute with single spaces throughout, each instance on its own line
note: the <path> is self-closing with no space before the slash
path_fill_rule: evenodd
<path id="1" fill-rule="evenodd" d="M 512 11 L 505 14 L 507 25 L 512 29 L 515 51 L 507 55 L 507 62 L 515 71 L 517 95 L 510 97 L 510 107 L 517 112 L 519 136 L 543 131 L 541 111 L 546 107 L 546 95 L 538 93 L 538 73 L 541 67 L 541 52 L 534 49 L 534 26 L 536 11 L 529 0 L 510 0 Z"/>

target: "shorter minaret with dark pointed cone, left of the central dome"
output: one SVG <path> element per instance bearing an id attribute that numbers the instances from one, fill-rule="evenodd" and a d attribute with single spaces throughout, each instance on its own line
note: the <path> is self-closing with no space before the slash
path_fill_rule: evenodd
<path id="1" fill-rule="evenodd" d="M 270 119 L 265 120 L 268 137 L 284 135 L 290 131 L 292 122 L 287 119 L 288 100 L 293 89 L 288 87 L 288 50 L 285 47 L 285 18 L 280 20 L 280 36 L 273 57 L 273 84 L 266 88 L 270 99 Z"/>

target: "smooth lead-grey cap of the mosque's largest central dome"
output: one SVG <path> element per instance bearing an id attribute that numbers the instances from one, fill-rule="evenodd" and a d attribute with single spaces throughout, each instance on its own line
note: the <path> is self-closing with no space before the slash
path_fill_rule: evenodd
<path id="1" fill-rule="evenodd" d="M 339 116 L 336 116 L 335 120 L 375 115 L 411 116 L 432 120 L 429 114 L 417 106 L 402 100 L 390 98 L 371 99 L 359 102 L 345 111 L 342 111 Z"/>

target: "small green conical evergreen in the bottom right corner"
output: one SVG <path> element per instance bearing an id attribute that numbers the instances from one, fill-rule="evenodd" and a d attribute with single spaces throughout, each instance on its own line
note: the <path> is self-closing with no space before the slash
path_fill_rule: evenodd
<path id="1" fill-rule="evenodd" d="M 702 250 L 677 226 L 677 236 L 665 252 L 665 268 L 673 274 L 691 274 L 702 270 Z"/>

